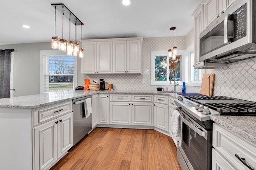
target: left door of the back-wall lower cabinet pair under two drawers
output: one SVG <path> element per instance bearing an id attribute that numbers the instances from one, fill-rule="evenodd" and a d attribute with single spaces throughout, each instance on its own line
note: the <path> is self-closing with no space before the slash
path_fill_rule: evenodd
<path id="1" fill-rule="evenodd" d="M 131 124 L 131 103 L 110 102 L 110 124 L 130 125 Z"/>

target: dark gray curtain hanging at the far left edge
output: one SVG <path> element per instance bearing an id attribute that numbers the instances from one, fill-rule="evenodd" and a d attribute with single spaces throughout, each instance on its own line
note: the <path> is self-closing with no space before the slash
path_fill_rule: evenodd
<path id="1" fill-rule="evenodd" d="M 12 49 L 0 50 L 0 98 L 10 97 L 10 72 Z"/>

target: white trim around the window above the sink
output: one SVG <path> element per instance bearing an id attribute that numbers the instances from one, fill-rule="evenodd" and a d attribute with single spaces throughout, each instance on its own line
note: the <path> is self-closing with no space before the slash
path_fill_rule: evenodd
<path id="1" fill-rule="evenodd" d="M 161 51 L 150 51 L 150 67 L 151 67 L 151 80 L 150 80 L 150 83 L 151 83 L 151 86 L 167 86 L 167 85 L 170 85 L 170 81 L 169 81 L 169 75 L 167 75 L 167 82 L 156 82 L 155 81 L 155 57 L 158 56 L 158 57 L 161 57 L 161 56 L 168 56 L 168 51 L 167 50 L 161 50 Z M 180 58 L 180 70 L 182 70 L 183 68 L 183 62 L 184 62 L 184 55 L 185 55 L 185 50 L 178 50 L 178 53 L 177 55 L 180 55 L 181 58 Z M 169 68 L 169 62 L 167 62 L 167 68 Z M 184 67 L 185 68 L 185 67 Z M 183 72 L 183 70 L 181 71 L 181 78 L 182 78 L 182 81 L 184 79 L 184 75 L 185 73 Z M 182 86 L 182 81 L 176 81 L 179 83 L 179 86 Z M 172 81 L 172 84 L 173 84 L 173 81 Z"/>

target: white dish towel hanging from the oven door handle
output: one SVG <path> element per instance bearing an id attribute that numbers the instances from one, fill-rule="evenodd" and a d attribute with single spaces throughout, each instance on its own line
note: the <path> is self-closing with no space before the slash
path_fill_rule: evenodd
<path id="1" fill-rule="evenodd" d="M 180 141 L 181 139 L 181 132 L 180 132 L 180 112 L 175 110 L 172 113 L 171 125 L 173 130 L 173 137 L 175 140 Z M 181 141 L 180 141 L 181 143 Z"/>

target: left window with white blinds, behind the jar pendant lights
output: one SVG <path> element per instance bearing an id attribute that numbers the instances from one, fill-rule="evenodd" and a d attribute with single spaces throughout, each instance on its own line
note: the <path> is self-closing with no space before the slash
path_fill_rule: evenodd
<path id="1" fill-rule="evenodd" d="M 40 92 L 73 90 L 76 79 L 76 57 L 41 54 Z"/>

